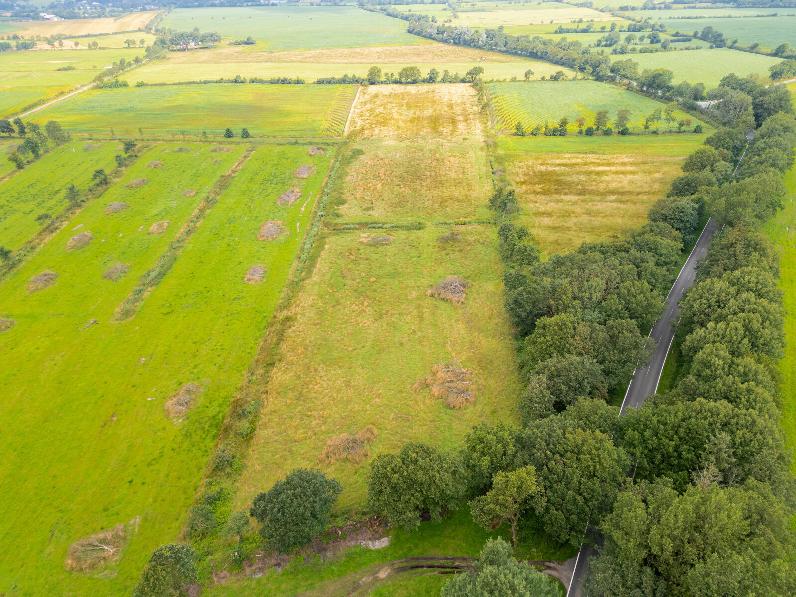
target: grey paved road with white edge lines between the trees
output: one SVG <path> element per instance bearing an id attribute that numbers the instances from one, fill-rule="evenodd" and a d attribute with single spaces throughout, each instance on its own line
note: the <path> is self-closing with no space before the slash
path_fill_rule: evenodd
<path id="1" fill-rule="evenodd" d="M 677 302 L 680 301 L 685 289 L 694 283 L 696 277 L 694 267 L 696 267 L 696 262 L 707 254 L 708 245 L 714 232 L 716 232 L 716 222 L 708 220 L 708 224 L 705 225 L 699 240 L 696 241 L 689 258 L 685 260 L 680 273 L 677 274 L 669 296 L 666 297 L 666 312 L 650 330 L 650 338 L 657 343 L 657 349 L 655 349 L 650 365 L 635 370 L 633 379 L 627 386 L 621 412 L 625 412 L 627 408 L 641 408 L 644 399 L 657 390 L 657 383 L 661 380 L 663 365 L 674 339 L 671 322 L 677 318 Z M 596 555 L 595 548 L 580 548 L 575 561 L 575 571 L 572 573 L 572 580 L 567 588 L 567 597 L 580 597 L 580 583 L 583 582 L 583 576 L 588 570 L 588 559 L 590 556 Z"/>

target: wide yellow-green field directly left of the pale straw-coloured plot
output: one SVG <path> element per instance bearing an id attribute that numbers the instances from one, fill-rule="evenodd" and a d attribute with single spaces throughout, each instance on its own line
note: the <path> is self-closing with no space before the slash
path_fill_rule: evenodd
<path id="1" fill-rule="evenodd" d="M 196 84 L 90 90 L 41 111 L 38 118 L 92 134 L 341 135 L 353 85 Z"/>

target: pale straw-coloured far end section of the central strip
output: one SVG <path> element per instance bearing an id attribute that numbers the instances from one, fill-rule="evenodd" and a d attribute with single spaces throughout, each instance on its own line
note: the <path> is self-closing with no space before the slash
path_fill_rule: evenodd
<path id="1" fill-rule="evenodd" d="M 353 106 L 351 131 L 367 139 L 480 137 L 477 99 L 466 83 L 371 85 Z"/>

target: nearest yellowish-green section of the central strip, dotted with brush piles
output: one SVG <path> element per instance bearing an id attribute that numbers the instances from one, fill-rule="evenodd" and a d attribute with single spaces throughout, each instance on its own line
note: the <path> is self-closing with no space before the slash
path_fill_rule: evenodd
<path id="1" fill-rule="evenodd" d="M 330 437 L 373 425 L 371 456 L 408 441 L 458 446 L 481 421 L 516 421 L 521 381 L 503 308 L 501 261 L 491 225 L 462 226 L 457 244 L 441 228 L 391 230 L 377 249 L 359 232 L 330 236 L 290 310 L 291 328 L 263 380 L 266 405 L 240 481 L 237 509 L 296 466 L 317 462 Z M 449 271 L 472 282 L 458 309 L 426 290 Z M 476 404 L 452 410 L 412 392 L 433 363 L 465 363 Z M 344 487 L 341 510 L 365 506 L 368 460 L 321 463 Z"/>

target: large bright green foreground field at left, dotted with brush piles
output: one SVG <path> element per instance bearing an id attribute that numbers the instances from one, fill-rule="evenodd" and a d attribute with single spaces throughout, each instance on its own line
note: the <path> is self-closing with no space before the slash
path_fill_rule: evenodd
<path id="1" fill-rule="evenodd" d="M 19 585 L 36 587 L 37 594 L 119 595 L 135 583 L 152 548 L 178 534 L 305 229 L 293 232 L 295 221 L 308 218 L 302 204 L 279 207 L 276 197 L 296 184 L 293 172 L 305 164 L 317 172 L 301 188 L 317 197 L 331 155 L 310 157 L 306 146 L 258 146 L 139 314 L 111 323 L 139 275 L 243 153 L 242 147 L 184 147 L 162 144 L 142 155 L 123 181 L 0 287 L 0 312 L 18 322 L 0 338 L 6 364 L 0 418 L 6 441 L 16 447 L 0 465 L 0 503 L 9 523 L 0 544 L 15 553 L 13 562 L 0 564 L 0 591 Z M 164 166 L 149 168 L 154 161 Z M 141 178 L 144 185 L 128 188 Z M 197 193 L 185 197 L 186 189 Z M 107 213 L 119 202 L 129 207 Z M 283 220 L 291 234 L 256 240 L 261 220 L 271 219 Z M 164 220 L 166 232 L 147 233 Z M 77 227 L 94 240 L 65 252 Z M 130 264 L 127 276 L 103 279 L 116 263 Z M 255 263 L 264 266 L 263 283 L 245 284 Z M 26 293 L 29 277 L 48 269 L 57 272 L 57 282 Z M 164 416 L 164 404 L 188 382 L 202 391 L 189 414 L 174 422 Z M 51 441 L 37 441 L 42 436 Z M 31 460 L 37 473 L 24 485 L 10 484 Z M 32 503 L 41 516 L 30 517 Z M 100 578 L 64 571 L 72 541 L 136 517 L 118 568 Z"/>

